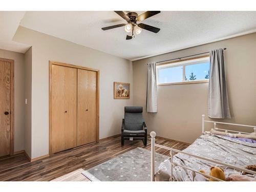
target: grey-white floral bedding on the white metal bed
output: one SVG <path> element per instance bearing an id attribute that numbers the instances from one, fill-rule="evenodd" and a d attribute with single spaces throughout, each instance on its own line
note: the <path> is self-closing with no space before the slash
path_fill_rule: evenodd
<path id="1" fill-rule="evenodd" d="M 247 143 L 240 140 L 233 140 L 219 135 L 201 135 L 193 144 L 189 145 L 184 152 L 206 157 L 220 162 L 245 167 L 246 165 L 256 164 L 256 143 Z M 177 164 L 193 168 L 195 170 L 205 170 L 209 173 L 212 166 L 219 166 L 224 170 L 226 177 L 230 174 L 241 174 L 240 170 L 227 168 L 219 164 L 205 160 L 196 159 L 184 154 L 176 154 L 173 161 Z M 170 158 L 160 163 L 155 174 L 157 181 L 170 180 Z M 192 172 L 180 166 L 173 168 L 174 181 L 192 181 Z M 195 181 L 206 181 L 207 179 L 196 174 Z"/>

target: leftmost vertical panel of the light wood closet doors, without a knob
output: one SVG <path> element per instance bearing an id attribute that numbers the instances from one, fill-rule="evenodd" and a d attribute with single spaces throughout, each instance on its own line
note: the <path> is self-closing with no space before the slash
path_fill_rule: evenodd
<path id="1" fill-rule="evenodd" d="M 65 150 L 65 67 L 52 65 L 52 153 Z"/>

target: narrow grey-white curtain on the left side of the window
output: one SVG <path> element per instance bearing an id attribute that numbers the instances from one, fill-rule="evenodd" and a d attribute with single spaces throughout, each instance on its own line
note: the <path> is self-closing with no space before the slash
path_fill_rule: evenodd
<path id="1" fill-rule="evenodd" d="M 147 112 L 157 112 L 157 71 L 156 63 L 147 63 L 147 89 L 146 89 Z"/>

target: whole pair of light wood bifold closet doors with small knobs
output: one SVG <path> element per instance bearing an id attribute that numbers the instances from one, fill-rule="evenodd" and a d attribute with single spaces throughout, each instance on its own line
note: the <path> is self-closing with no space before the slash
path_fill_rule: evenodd
<path id="1" fill-rule="evenodd" d="M 50 62 L 50 153 L 98 140 L 98 71 Z"/>

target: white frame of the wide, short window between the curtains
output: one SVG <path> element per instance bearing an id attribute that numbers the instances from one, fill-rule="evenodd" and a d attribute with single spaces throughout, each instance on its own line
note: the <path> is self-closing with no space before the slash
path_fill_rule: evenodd
<path id="1" fill-rule="evenodd" d="M 206 83 L 209 82 L 209 79 L 204 80 L 185 80 L 185 66 L 189 65 L 195 65 L 198 63 L 204 63 L 209 62 L 209 56 L 201 56 L 201 57 L 194 57 L 189 59 L 184 59 L 180 61 L 174 61 L 174 62 L 167 62 L 160 64 L 156 66 L 157 69 L 157 85 L 158 86 L 166 86 L 166 85 L 172 85 L 172 84 L 189 84 L 189 83 Z M 183 74 L 182 74 L 182 81 L 179 82 L 166 82 L 166 83 L 159 83 L 159 69 L 165 69 L 165 68 L 173 68 L 173 67 L 179 67 L 183 66 Z"/>

